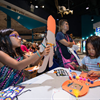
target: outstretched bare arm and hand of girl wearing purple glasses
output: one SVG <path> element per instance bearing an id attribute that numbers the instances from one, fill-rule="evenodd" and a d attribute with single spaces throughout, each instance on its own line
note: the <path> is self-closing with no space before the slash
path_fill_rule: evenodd
<path id="1" fill-rule="evenodd" d="M 38 51 L 38 53 L 42 57 L 44 55 L 47 55 L 49 53 L 49 51 L 50 51 L 50 47 L 47 46 L 47 48 L 45 49 L 45 51 L 42 54 L 40 54 L 39 51 Z M 40 57 L 36 53 L 33 56 L 30 56 L 27 59 L 24 59 L 24 60 L 18 62 L 14 58 L 10 57 L 8 54 L 4 53 L 3 51 L 0 51 L 0 62 L 3 63 L 4 65 L 7 65 L 7 66 L 12 67 L 12 68 L 17 69 L 17 70 L 24 69 L 29 64 L 36 62 L 39 58 Z"/>

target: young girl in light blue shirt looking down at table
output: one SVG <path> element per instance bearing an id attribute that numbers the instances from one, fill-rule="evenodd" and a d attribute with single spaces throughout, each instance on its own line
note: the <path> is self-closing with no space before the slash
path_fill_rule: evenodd
<path id="1" fill-rule="evenodd" d="M 100 76 L 100 37 L 91 36 L 86 41 L 86 56 L 82 68 L 88 69 L 88 75 Z"/>

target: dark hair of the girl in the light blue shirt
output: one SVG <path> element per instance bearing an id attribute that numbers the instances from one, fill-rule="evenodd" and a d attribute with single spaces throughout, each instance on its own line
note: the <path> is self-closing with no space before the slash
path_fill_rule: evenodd
<path id="1" fill-rule="evenodd" d="M 91 36 L 87 39 L 86 41 L 86 55 L 89 56 L 88 54 L 88 49 L 87 49 L 87 44 L 91 43 L 94 47 L 95 50 L 95 57 L 98 58 L 100 56 L 100 37 L 99 36 Z"/>

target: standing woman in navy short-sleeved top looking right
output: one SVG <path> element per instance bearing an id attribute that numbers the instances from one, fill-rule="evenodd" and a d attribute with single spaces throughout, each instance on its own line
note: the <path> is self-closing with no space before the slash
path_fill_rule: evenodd
<path id="1" fill-rule="evenodd" d="M 67 60 L 72 58 L 72 54 L 69 52 L 67 47 L 72 47 L 74 45 L 73 40 L 70 38 L 70 36 L 67 34 L 67 31 L 69 30 L 69 24 L 67 20 L 62 19 L 59 21 L 59 32 L 56 35 L 56 41 L 57 41 L 57 55 L 59 59 L 59 65 L 62 67 L 65 67 L 64 61 L 62 56 Z M 60 49 L 59 49 L 60 48 Z M 76 66 L 76 59 L 74 57 L 74 60 L 70 60 L 70 64 L 73 66 Z M 67 63 L 67 62 L 65 62 Z"/>

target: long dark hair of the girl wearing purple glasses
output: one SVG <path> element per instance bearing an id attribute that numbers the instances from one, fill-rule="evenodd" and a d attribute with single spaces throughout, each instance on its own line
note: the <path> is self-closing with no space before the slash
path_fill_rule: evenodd
<path id="1" fill-rule="evenodd" d="M 12 43 L 9 35 L 14 31 L 14 29 L 4 29 L 0 30 L 0 48 L 3 52 L 7 53 L 11 57 L 16 57 L 16 54 L 12 48 Z M 17 54 L 23 56 L 23 52 L 20 47 L 15 49 Z"/>

